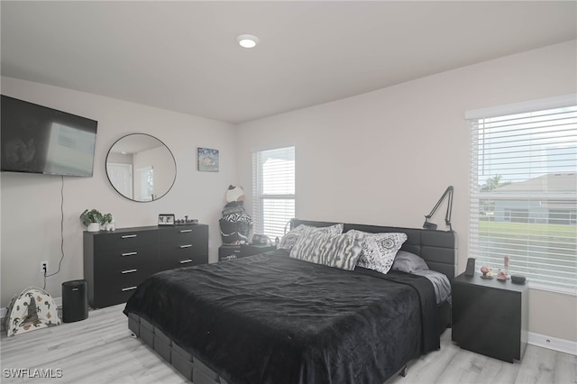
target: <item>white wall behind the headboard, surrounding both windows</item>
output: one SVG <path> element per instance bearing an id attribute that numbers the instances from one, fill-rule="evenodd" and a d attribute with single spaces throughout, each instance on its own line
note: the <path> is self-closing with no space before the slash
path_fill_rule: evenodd
<path id="1" fill-rule="evenodd" d="M 576 41 L 570 41 L 243 123 L 237 153 L 247 208 L 251 152 L 289 145 L 296 145 L 296 209 L 302 219 L 421 227 L 453 185 L 463 272 L 469 220 L 465 111 L 575 93 L 576 58 Z M 439 229 L 443 217 L 441 206 L 432 220 Z M 551 296 L 553 316 L 545 311 Z M 530 291 L 531 332 L 577 342 L 575 324 L 575 297 Z"/>

